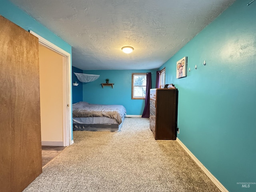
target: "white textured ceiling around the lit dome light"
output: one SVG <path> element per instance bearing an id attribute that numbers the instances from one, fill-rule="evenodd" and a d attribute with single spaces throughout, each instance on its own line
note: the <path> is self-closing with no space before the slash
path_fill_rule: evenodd
<path id="1" fill-rule="evenodd" d="M 73 66 L 135 70 L 160 67 L 235 0 L 10 1 L 72 46 Z"/>

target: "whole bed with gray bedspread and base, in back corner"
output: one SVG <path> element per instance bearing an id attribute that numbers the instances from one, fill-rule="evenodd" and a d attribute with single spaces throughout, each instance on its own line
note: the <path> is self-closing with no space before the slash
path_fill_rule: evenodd
<path id="1" fill-rule="evenodd" d="M 73 130 L 120 131 L 126 109 L 122 105 L 78 102 L 72 105 Z"/>

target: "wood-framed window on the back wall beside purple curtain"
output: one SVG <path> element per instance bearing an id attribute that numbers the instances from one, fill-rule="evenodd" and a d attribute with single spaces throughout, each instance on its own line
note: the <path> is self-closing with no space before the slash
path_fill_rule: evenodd
<path id="1" fill-rule="evenodd" d="M 146 73 L 132 74 L 132 99 L 145 99 L 146 96 Z"/>

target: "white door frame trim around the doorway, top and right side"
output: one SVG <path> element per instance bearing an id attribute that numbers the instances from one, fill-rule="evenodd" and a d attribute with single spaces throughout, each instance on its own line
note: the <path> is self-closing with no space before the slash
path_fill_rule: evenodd
<path id="1" fill-rule="evenodd" d="M 63 106 L 66 106 L 63 107 L 63 145 L 72 145 L 74 143 L 74 140 L 72 140 L 71 127 L 71 55 L 70 53 L 64 51 L 63 49 L 52 44 L 40 35 L 36 34 L 35 32 L 31 30 L 29 30 L 29 32 L 38 38 L 39 44 L 42 44 L 43 46 L 53 50 L 54 52 L 61 54 L 62 56 L 64 56 L 64 60 L 66 61 L 66 82 L 63 82 L 63 87 L 66 88 L 67 92 L 63 93 L 63 98 L 67 98 L 67 100 L 63 100 Z"/>

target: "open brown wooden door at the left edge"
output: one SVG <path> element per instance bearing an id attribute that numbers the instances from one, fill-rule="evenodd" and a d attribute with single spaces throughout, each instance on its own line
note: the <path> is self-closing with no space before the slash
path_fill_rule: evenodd
<path id="1" fill-rule="evenodd" d="M 0 191 L 42 173 L 38 38 L 0 16 Z"/>

